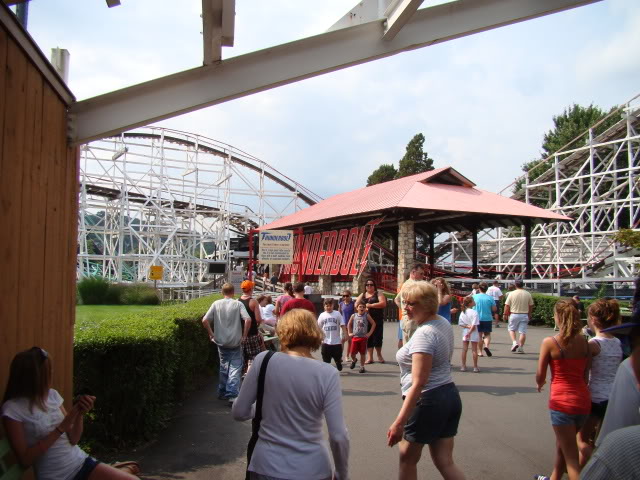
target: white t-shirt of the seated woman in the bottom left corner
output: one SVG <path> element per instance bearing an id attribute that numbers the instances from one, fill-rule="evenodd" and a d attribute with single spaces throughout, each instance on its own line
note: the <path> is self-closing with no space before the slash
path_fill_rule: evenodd
<path id="1" fill-rule="evenodd" d="M 29 408 L 26 398 L 7 400 L 2 405 L 2 416 L 22 423 L 27 446 L 34 446 L 39 440 L 49 435 L 62 423 L 64 415 L 60 410 L 63 400 L 53 388 L 49 390 L 45 402 L 46 411 L 37 405 Z M 38 459 L 34 465 L 38 480 L 66 480 L 73 478 L 80 471 L 87 454 L 77 445 L 71 445 L 67 434 L 60 435 L 58 440 Z"/>

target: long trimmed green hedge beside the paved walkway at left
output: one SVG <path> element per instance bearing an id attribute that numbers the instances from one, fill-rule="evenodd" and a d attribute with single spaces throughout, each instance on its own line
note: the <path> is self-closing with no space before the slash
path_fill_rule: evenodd
<path id="1" fill-rule="evenodd" d="M 215 299 L 76 324 L 75 394 L 97 397 L 85 422 L 89 443 L 122 446 L 150 438 L 194 377 L 214 371 L 218 355 L 200 320 Z"/>

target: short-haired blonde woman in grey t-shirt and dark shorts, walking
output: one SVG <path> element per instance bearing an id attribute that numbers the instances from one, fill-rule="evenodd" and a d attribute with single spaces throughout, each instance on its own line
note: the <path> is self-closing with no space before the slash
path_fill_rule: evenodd
<path id="1" fill-rule="evenodd" d="M 429 445 L 431 459 L 446 479 L 464 479 L 453 461 L 454 437 L 462 402 L 451 377 L 453 328 L 437 315 L 438 291 L 427 282 L 402 289 L 407 317 L 418 328 L 396 354 L 404 402 L 387 432 L 387 444 L 400 442 L 401 480 L 417 478 L 422 449 Z"/>

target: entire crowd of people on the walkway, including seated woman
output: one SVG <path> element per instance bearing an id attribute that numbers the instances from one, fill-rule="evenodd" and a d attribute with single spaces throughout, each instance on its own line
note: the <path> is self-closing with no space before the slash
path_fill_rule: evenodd
<path id="1" fill-rule="evenodd" d="M 340 373 L 384 363 L 383 315 L 387 299 L 373 280 L 357 297 L 344 290 L 340 301 L 323 300 L 323 311 L 304 298 L 305 285 L 286 284 L 275 304 L 253 298 L 254 283 L 241 284 L 242 295 L 225 284 L 223 298 L 202 319 L 220 358 L 218 398 L 231 405 L 237 420 L 253 419 L 247 478 L 254 480 L 349 478 L 350 440 L 343 408 Z M 494 287 L 499 290 L 498 285 Z M 454 327 L 451 289 L 443 278 L 424 279 L 415 265 L 395 303 L 402 309 L 396 361 L 400 368 L 402 404 L 387 431 L 387 444 L 399 445 L 400 479 L 417 478 L 425 445 L 443 478 L 464 479 L 454 461 L 454 439 L 462 400 L 451 374 Z M 491 356 L 491 332 L 499 325 L 502 292 L 484 282 L 462 299 L 461 370 L 471 348 L 473 371 L 478 358 Z M 542 341 L 535 376 L 542 391 L 550 372 L 549 415 L 556 437 L 550 477 L 559 480 L 638 478 L 640 475 L 640 305 L 634 322 L 621 325 L 615 300 L 599 299 L 587 310 L 583 329 L 579 304 L 560 299 L 554 308 L 558 333 Z M 515 282 L 504 302 L 503 318 L 512 339 L 511 351 L 524 354 L 533 299 Z M 495 323 L 494 323 L 495 322 Z M 587 331 L 585 331 L 587 330 Z M 585 334 L 586 333 L 586 334 Z M 622 361 L 626 335 L 630 358 Z M 275 353 L 264 338 L 279 341 Z M 588 338 L 591 336 L 592 338 Z M 320 350 L 322 362 L 313 357 Z M 335 368 L 331 363 L 335 363 Z M 94 397 L 81 395 L 70 412 L 51 384 L 51 359 L 33 347 L 11 364 L 2 404 L 2 420 L 18 461 L 34 465 L 39 479 L 135 478 L 137 465 L 114 468 L 87 455 L 77 442 L 83 416 Z M 329 448 L 323 445 L 323 419 Z M 333 460 L 333 461 L 332 461 Z"/>

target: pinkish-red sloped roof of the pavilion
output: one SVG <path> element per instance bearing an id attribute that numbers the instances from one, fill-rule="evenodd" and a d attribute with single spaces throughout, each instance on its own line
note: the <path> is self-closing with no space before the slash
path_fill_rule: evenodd
<path id="1" fill-rule="evenodd" d="M 444 167 L 334 195 L 261 229 L 324 228 L 382 215 L 384 224 L 414 220 L 419 228 L 433 232 L 571 220 L 476 188 L 454 168 Z"/>

